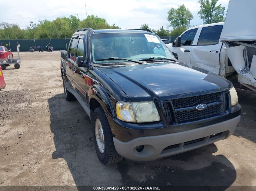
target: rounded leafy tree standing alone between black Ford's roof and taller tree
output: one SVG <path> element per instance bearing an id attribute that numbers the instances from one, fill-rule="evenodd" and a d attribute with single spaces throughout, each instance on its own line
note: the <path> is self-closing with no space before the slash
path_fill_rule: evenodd
<path id="1" fill-rule="evenodd" d="M 185 7 L 185 5 L 179 5 L 177 9 L 171 8 L 168 11 L 168 21 L 171 22 L 173 28 L 188 27 L 188 19 L 193 19 L 192 13 Z"/>

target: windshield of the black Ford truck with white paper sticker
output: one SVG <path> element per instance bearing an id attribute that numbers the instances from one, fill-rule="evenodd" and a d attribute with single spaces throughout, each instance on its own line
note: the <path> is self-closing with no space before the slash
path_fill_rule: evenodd
<path id="1" fill-rule="evenodd" d="M 128 60 L 100 60 L 113 57 L 141 60 L 151 57 L 175 59 L 162 40 L 149 33 L 99 33 L 91 35 L 94 63 L 130 62 Z"/>

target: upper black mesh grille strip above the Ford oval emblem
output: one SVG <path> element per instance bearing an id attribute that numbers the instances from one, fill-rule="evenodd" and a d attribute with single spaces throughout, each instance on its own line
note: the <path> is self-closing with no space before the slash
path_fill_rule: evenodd
<path id="1" fill-rule="evenodd" d="M 207 102 L 214 102 L 220 100 L 220 93 L 213 93 L 213 94 L 205 94 L 200 96 L 193 96 L 193 97 L 185 97 L 171 100 L 173 107 L 188 107 L 193 106 L 196 103 L 207 103 Z"/>

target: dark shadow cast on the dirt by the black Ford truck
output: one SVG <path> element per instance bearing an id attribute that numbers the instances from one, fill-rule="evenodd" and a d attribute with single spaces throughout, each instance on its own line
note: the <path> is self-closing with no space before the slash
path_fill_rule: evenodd
<path id="1" fill-rule="evenodd" d="M 236 179 L 233 164 L 223 155 L 213 154 L 218 150 L 214 144 L 156 161 L 134 163 L 124 159 L 118 164 L 103 165 L 94 150 L 90 119 L 80 104 L 77 101 L 66 101 L 64 94 L 49 98 L 48 104 L 56 149 L 52 158 L 63 158 L 66 161 L 68 169 L 60 169 L 63 169 L 63 174 L 71 172 L 78 190 L 84 190 L 79 186 L 167 184 L 206 186 L 206 190 L 215 190 L 209 185 L 222 186 L 218 190 L 225 190 Z"/>

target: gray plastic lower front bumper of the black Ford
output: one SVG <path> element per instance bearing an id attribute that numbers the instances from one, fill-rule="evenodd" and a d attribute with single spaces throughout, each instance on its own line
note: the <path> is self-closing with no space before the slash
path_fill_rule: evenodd
<path id="1" fill-rule="evenodd" d="M 152 161 L 225 139 L 234 133 L 239 121 L 240 116 L 237 116 L 221 123 L 189 131 L 140 137 L 129 142 L 121 142 L 115 137 L 113 140 L 118 154 L 123 157 L 133 161 Z M 218 133 L 221 134 L 215 135 Z M 136 150 L 136 147 L 139 145 L 144 145 L 144 149 L 140 152 Z M 169 147 L 171 145 L 172 147 Z M 164 150 L 166 147 L 169 147 L 169 149 Z"/>

